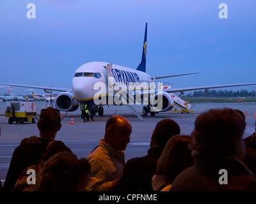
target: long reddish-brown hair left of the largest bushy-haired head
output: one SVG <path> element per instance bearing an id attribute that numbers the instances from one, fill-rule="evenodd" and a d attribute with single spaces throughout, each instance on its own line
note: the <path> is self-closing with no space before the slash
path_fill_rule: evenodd
<path id="1" fill-rule="evenodd" d="M 194 164 L 189 145 L 193 137 L 175 135 L 166 143 L 161 157 L 157 161 L 156 175 L 164 175 L 168 181 L 173 181 L 183 170 Z"/>

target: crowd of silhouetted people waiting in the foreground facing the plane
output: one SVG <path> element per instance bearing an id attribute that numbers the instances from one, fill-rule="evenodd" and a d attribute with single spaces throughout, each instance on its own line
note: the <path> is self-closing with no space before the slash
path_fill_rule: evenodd
<path id="1" fill-rule="evenodd" d="M 243 139 L 239 110 L 201 113 L 191 135 L 180 135 L 172 119 L 160 120 L 147 155 L 129 161 L 132 126 L 121 115 L 108 119 L 99 146 L 81 159 L 56 140 L 58 110 L 43 109 L 37 126 L 39 137 L 14 150 L 3 191 L 256 191 L 256 133 Z"/>

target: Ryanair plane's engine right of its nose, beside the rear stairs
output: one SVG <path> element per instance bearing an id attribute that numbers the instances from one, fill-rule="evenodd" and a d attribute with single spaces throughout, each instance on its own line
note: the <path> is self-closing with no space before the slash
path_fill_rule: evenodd
<path id="1" fill-rule="evenodd" d="M 174 106 L 174 100 L 168 92 L 157 92 L 150 99 L 150 103 L 152 112 L 172 110 Z"/>

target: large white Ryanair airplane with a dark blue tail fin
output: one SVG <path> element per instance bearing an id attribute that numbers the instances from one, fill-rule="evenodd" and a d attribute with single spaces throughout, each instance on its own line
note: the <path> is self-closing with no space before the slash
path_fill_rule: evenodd
<path id="1" fill-rule="evenodd" d="M 195 73 L 187 73 L 182 75 L 171 75 L 164 77 L 150 77 L 146 73 L 146 54 L 147 54 L 147 23 L 145 28 L 145 38 L 143 43 L 143 52 L 141 62 L 136 69 L 125 68 L 108 62 L 88 62 L 76 69 L 72 78 L 72 89 L 56 88 L 56 87 L 40 87 L 35 85 L 18 85 L 3 84 L 18 87 L 29 87 L 31 89 L 44 89 L 45 92 L 61 91 L 56 97 L 55 106 L 61 111 L 75 111 L 79 107 L 79 103 L 88 103 L 95 106 L 96 112 L 103 115 L 104 105 L 122 105 L 120 101 L 113 100 L 112 96 L 127 96 L 130 106 L 131 97 L 143 99 L 143 115 L 154 116 L 156 112 L 164 112 L 172 110 L 179 98 L 173 94 L 174 92 L 194 91 L 205 89 L 218 89 L 221 87 L 236 87 L 242 85 L 254 85 L 256 83 L 247 84 L 229 84 L 229 85 L 209 85 L 201 87 L 176 88 L 172 86 L 164 86 L 163 89 L 154 85 L 155 80 L 159 78 L 177 77 L 182 75 L 191 75 Z M 121 84 L 121 85 L 120 85 Z M 133 86 L 131 89 L 130 87 Z M 136 86 L 136 88 L 134 88 Z M 137 89 L 137 88 L 140 89 Z M 118 95 L 119 94 L 119 95 Z M 109 97 L 110 96 L 110 97 Z M 145 97 L 144 97 L 145 96 Z M 156 101 L 161 98 L 161 106 Z M 178 100 L 177 100 L 178 99 Z M 121 97 L 121 101 L 122 100 Z M 132 103 L 136 101 L 132 100 Z M 181 101 L 181 105 L 184 101 Z M 185 103 L 184 103 L 185 105 Z M 159 108 L 160 107 L 160 108 Z M 136 110 L 135 110 L 136 112 Z M 134 113 L 135 113 L 134 112 Z M 138 115 L 137 115 L 138 116 Z"/>

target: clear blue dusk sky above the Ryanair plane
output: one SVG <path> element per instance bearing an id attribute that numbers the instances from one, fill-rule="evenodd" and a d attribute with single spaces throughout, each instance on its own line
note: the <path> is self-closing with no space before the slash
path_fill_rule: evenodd
<path id="1" fill-rule="evenodd" d="M 163 80 L 175 88 L 256 82 L 255 10 L 254 0 L 0 0 L 0 80 L 68 88 L 86 62 L 137 68 L 147 22 L 150 76 L 199 72 Z"/>

